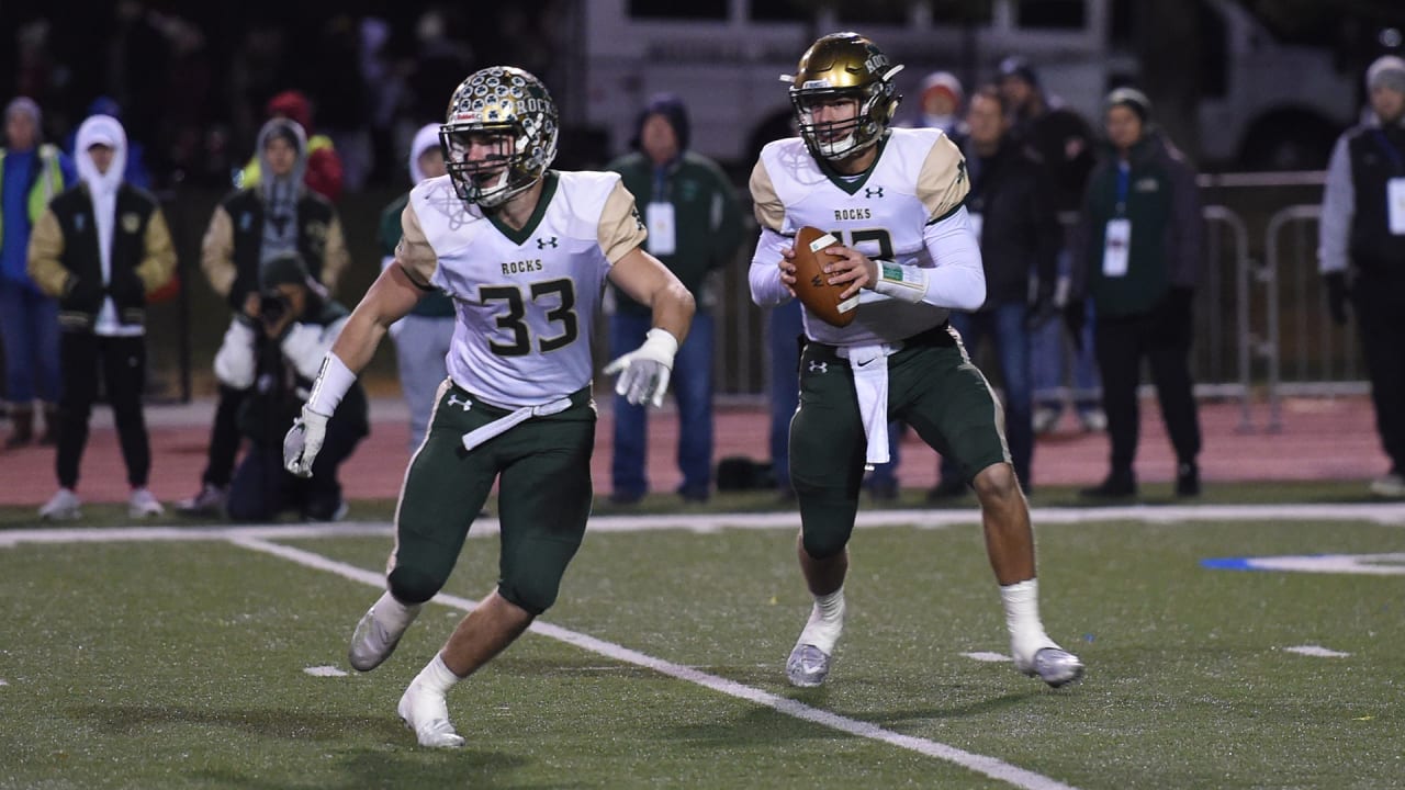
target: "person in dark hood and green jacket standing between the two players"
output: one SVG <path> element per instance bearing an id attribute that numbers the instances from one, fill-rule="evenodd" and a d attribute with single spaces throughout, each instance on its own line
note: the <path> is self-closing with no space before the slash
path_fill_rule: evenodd
<path id="1" fill-rule="evenodd" d="M 735 259 L 742 242 L 742 212 L 721 167 L 688 150 L 687 107 L 673 94 L 655 96 L 639 114 L 635 152 L 613 162 L 625 188 L 643 207 L 649 253 L 676 274 L 693 299 L 693 329 L 673 365 L 673 395 L 679 399 L 679 470 L 686 502 L 705 502 L 712 488 L 712 346 L 715 302 L 710 274 Z M 651 311 L 611 287 L 610 353 L 620 356 L 643 342 Z M 617 505 L 632 505 L 649 489 L 645 477 L 648 416 L 642 405 L 617 398 L 614 403 L 614 461 Z"/>

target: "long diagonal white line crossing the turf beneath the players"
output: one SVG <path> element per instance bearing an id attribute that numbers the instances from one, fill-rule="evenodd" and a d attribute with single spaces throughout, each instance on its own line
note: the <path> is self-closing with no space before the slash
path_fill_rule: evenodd
<path id="1" fill-rule="evenodd" d="M 319 571 L 327 571 L 339 576 L 343 576 L 346 579 L 351 579 L 354 582 L 362 582 L 375 586 L 378 589 L 382 589 L 385 586 L 385 578 L 382 574 L 372 574 L 370 571 L 364 571 L 354 565 L 347 565 L 344 562 L 337 562 L 327 557 L 322 557 L 320 554 L 313 554 L 311 551 L 303 551 L 301 548 L 292 548 L 288 545 L 268 543 L 260 538 L 232 537 L 229 540 L 230 543 L 242 545 L 251 551 L 273 554 L 274 557 L 281 557 L 284 559 L 296 562 L 298 565 L 315 568 Z M 478 606 L 476 602 L 468 600 L 466 597 L 444 595 L 444 593 L 434 596 L 434 603 L 441 603 L 444 606 L 451 606 L 454 609 L 459 609 L 464 611 L 471 611 L 475 606 Z M 913 735 L 903 735 L 901 732 L 884 730 L 877 724 L 870 724 L 865 721 L 847 718 L 826 710 L 819 710 L 805 703 L 771 694 L 760 689 L 753 689 L 750 686 L 745 686 L 742 683 L 738 683 L 735 680 L 728 680 L 726 678 L 719 678 L 717 675 L 710 675 L 707 672 L 694 669 L 691 666 L 683 666 L 680 663 L 673 663 L 672 661 L 653 658 L 652 655 L 645 655 L 639 651 L 629 649 L 624 645 L 617 645 L 614 642 L 597 640 L 594 637 L 582 634 L 579 631 L 562 628 L 561 626 L 552 626 L 549 623 L 542 623 L 541 620 L 537 620 L 535 623 L 531 624 L 528 630 L 552 640 L 559 640 L 580 649 L 603 655 L 611 661 L 632 663 L 635 666 L 652 669 L 660 675 L 667 675 L 669 678 L 676 678 L 679 680 L 695 683 L 705 689 L 711 689 L 714 692 L 719 692 L 722 694 L 728 694 L 739 700 L 764 706 L 778 713 L 784 713 L 785 715 L 799 718 L 802 721 L 809 721 L 812 724 L 819 724 L 821 727 L 829 727 L 830 730 L 837 730 L 840 732 L 847 732 L 850 735 L 857 735 L 860 738 L 880 741 L 892 746 L 926 755 L 929 758 L 946 760 L 957 766 L 965 768 L 967 770 L 982 773 L 985 776 L 989 776 L 991 779 L 1013 784 L 1014 787 L 1024 787 L 1027 790 L 1075 790 L 1072 786 L 1064 784 L 1057 779 L 1051 779 L 1041 773 L 1034 773 L 1033 770 L 1026 770 L 1023 768 L 1013 766 L 996 758 L 967 752 L 965 749 L 958 749 L 955 746 L 940 744 L 937 741 L 929 741 L 926 738 L 916 738 Z"/>

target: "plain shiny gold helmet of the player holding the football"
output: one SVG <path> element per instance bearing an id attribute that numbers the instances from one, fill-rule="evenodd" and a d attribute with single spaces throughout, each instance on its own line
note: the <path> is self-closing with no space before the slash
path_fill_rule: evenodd
<path id="1" fill-rule="evenodd" d="M 857 32 L 832 32 L 812 44 L 795 75 L 781 76 L 791 83 L 795 121 L 809 150 L 822 159 L 844 159 L 878 142 L 902 101 L 892 82 L 901 70 Z M 856 103 L 851 118 L 815 118 L 818 105 L 842 100 Z"/>

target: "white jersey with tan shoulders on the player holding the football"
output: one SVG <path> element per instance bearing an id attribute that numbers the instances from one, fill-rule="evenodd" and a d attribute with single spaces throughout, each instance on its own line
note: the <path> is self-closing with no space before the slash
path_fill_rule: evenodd
<path id="1" fill-rule="evenodd" d="M 799 138 L 769 143 L 752 171 L 756 219 L 783 236 L 828 231 L 871 259 L 934 267 L 923 229 L 955 212 L 971 188 L 961 150 L 939 129 L 892 129 L 867 173 L 846 177 Z M 858 292 L 854 320 L 833 326 L 804 311 L 805 335 L 833 346 L 912 337 L 947 319 L 944 308 Z"/>

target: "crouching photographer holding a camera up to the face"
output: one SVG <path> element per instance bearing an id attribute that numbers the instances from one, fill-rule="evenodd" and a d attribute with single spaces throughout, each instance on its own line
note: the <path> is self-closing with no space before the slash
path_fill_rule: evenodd
<path id="1" fill-rule="evenodd" d="M 259 290 L 244 297 L 215 354 L 221 387 L 239 392 L 236 425 L 250 448 L 229 484 L 226 509 L 240 522 L 264 522 L 296 509 L 309 522 L 334 522 L 346 513 L 337 467 L 370 433 L 365 392 L 351 387 L 313 464 L 299 478 L 282 468 L 282 434 L 301 412 L 341 332 L 347 309 L 326 298 L 296 253 L 263 266 Z"/>

